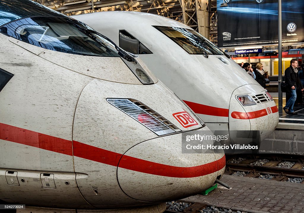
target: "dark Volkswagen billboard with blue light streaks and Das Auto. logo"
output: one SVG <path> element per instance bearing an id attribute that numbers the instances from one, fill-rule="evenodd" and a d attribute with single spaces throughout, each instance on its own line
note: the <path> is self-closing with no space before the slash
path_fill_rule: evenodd
<path id="1" fill-rule="evenodd" d="M 217 18 L 220 48 L 278 44 L 277 0 L 217 0 Z M 304 1 L 282 0 L 282 44 L 301 42 Z"/>

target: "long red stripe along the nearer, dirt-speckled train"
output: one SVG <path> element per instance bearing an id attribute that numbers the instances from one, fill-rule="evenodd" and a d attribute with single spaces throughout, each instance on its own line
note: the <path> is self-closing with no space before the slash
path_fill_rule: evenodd
<path id="1" fill-rule="evenodd" d="M 0 139 L 72 156 L 72 141 L 0 123 Z M 226 165 L 225 155 L 208 164 L 176 167 L 142 160 L 73 141 L 74 156 L 147 174 L 194 178 L 211 174 Z M 202 155 L 203 156 L 203 155 Z"/>

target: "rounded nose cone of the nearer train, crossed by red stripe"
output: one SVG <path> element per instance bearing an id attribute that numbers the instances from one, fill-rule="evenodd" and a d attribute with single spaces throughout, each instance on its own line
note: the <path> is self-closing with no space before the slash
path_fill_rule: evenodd
<path id="1" fill-rule="evenodd" d="M 129 149 L 119 161 L 117 180 L 133 199 L 162 202 L 206 190 L 224 170 L 223 153 L 182 154 L 181 134 L 175 134 Z"/>

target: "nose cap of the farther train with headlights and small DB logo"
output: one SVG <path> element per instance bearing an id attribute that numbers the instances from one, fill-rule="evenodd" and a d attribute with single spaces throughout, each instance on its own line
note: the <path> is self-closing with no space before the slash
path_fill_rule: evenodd
<path id="1" fill-rule="evenodd" d="M 258 130 L 264 140 L 278 125 L 278 108 L 259 85 L 244 85 L 234 90 L 229 107 L 230 138 L 250 138 Z M 257 133 L 257 132 L 256 132 Z M 237 140 L 231 138 L 232 141 Z"/>

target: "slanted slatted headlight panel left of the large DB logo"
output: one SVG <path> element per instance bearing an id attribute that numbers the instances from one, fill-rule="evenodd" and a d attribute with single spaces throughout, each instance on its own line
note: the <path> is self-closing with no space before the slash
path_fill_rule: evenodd
<path id="1" fill-rule="evenodd" d="M 123 111 L 134 120 L 143 124 L 145 127 L 156 133 L 157 135 L 170 134 L 181 131 L 170 121 L 162 117 L 154 110 L 147 107 L 135 99 L 107 99 L 107 101 Z"/>

